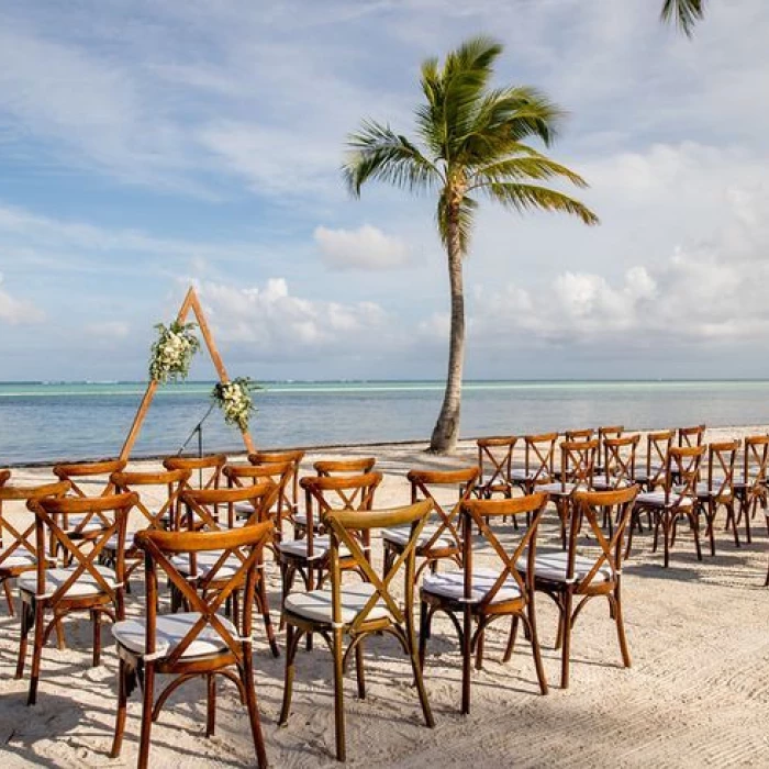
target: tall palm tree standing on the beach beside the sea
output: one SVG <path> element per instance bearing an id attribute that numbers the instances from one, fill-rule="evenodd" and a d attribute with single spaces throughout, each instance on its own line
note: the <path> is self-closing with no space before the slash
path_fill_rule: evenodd
<path id="1" fill-rule="evenodd" d="M 468 253 L 478 198 L 486 197 L 519 213 L 544 209 L 579 216 L 586 224 L 598 218 L 567 194 L 537 183 L 551 178 L 578 187 L 586 182 L 524 143 L 536 137 L 549 145 L 561 111 L 527 87 L 488 87 L 502 46 L 475 37 L 446 56 L 422 65 L 425 97 L 415 110 L 416 140 L 397 134 L 387 124 L 365 121 L 348 137 L 343 166 L 354 196 L 369 179 L 413 192 L 437 193 L 438 233 L 448 256 L 452 324 L 448 376 L 431 450 L 445 454 L 459 432 L 465 357 L 462 259 Z"/>

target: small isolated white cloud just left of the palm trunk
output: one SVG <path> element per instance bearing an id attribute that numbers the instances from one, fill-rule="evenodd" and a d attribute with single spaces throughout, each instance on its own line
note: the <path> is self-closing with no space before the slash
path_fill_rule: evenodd
<path id="1" fill-rule="evenodd" d="M 409 260 L 405 243 L 364 224 L 357 230 L 315 227 L 315 243 L 323 260 L 334 269 L 380 270 L 402 267 Z"/>

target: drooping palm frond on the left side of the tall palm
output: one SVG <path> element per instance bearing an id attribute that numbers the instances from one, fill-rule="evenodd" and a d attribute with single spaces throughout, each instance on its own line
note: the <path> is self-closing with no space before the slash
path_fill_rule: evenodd
<path id="1" fill-rule="evenodd" d="M 433 163 L 389 125 L 364 122 L 360 132 L 348 137 L 347 147 L 349 152 L 342 172 L 356 197 L 369 179 L 388 181 L 411 191 L 433 189 L 441 182 L 441 172 Z"/>

